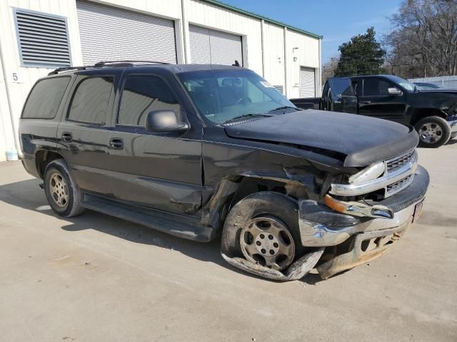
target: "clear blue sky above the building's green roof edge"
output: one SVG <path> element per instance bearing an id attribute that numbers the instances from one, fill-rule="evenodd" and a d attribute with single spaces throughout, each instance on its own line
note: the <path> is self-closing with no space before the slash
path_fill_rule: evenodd
<path id="1" fill-rule="evenodd" d="M 221 0 L 231 6 L 323 36 L 322 61 L 338 56 L 338 46 L 373 26 L 388 33 L 388 17 L 402 0 Z"/>

